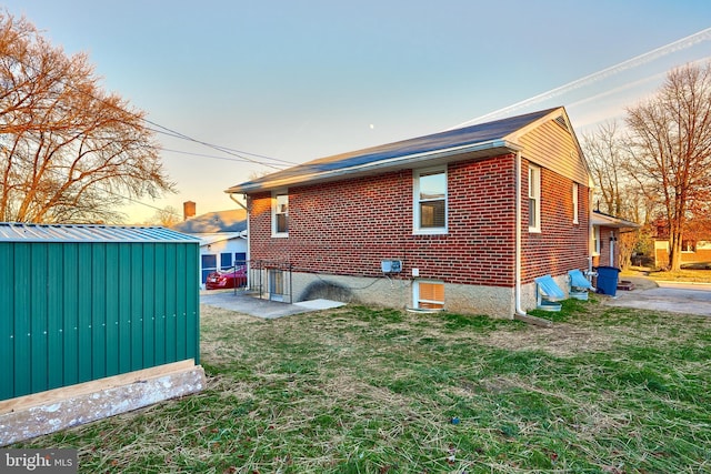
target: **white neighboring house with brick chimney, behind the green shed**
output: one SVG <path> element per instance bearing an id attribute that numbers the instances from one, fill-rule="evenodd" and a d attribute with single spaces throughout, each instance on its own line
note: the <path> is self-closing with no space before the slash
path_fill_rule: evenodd
<path id="1" fill-rule="evenodd" d="M 200 239 L 200 285 L 204 289 L 211 272 L 244 264 L 247 212 L 238 209 L 189 216 L 190 211 L 194 212 L 191 202 L 184 204 L 184 210 L 187 219 L 171 229 Z"/>

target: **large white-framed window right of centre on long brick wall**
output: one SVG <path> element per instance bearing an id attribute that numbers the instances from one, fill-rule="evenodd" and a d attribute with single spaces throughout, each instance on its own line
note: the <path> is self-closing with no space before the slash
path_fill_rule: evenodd
<path id="1" fill-rule="evenodd" d="M 414 172 L 413 232 L 447 233 L 447 169 Z"/>

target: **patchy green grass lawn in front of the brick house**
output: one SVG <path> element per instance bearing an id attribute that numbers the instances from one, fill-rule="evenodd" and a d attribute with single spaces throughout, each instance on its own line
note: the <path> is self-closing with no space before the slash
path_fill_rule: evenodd
<path id="1" fill-rule="evenodd" d="M 86 473 L 711 472 L 708 317 L 201 311 L 204 392 L 12 447 Z"/>

